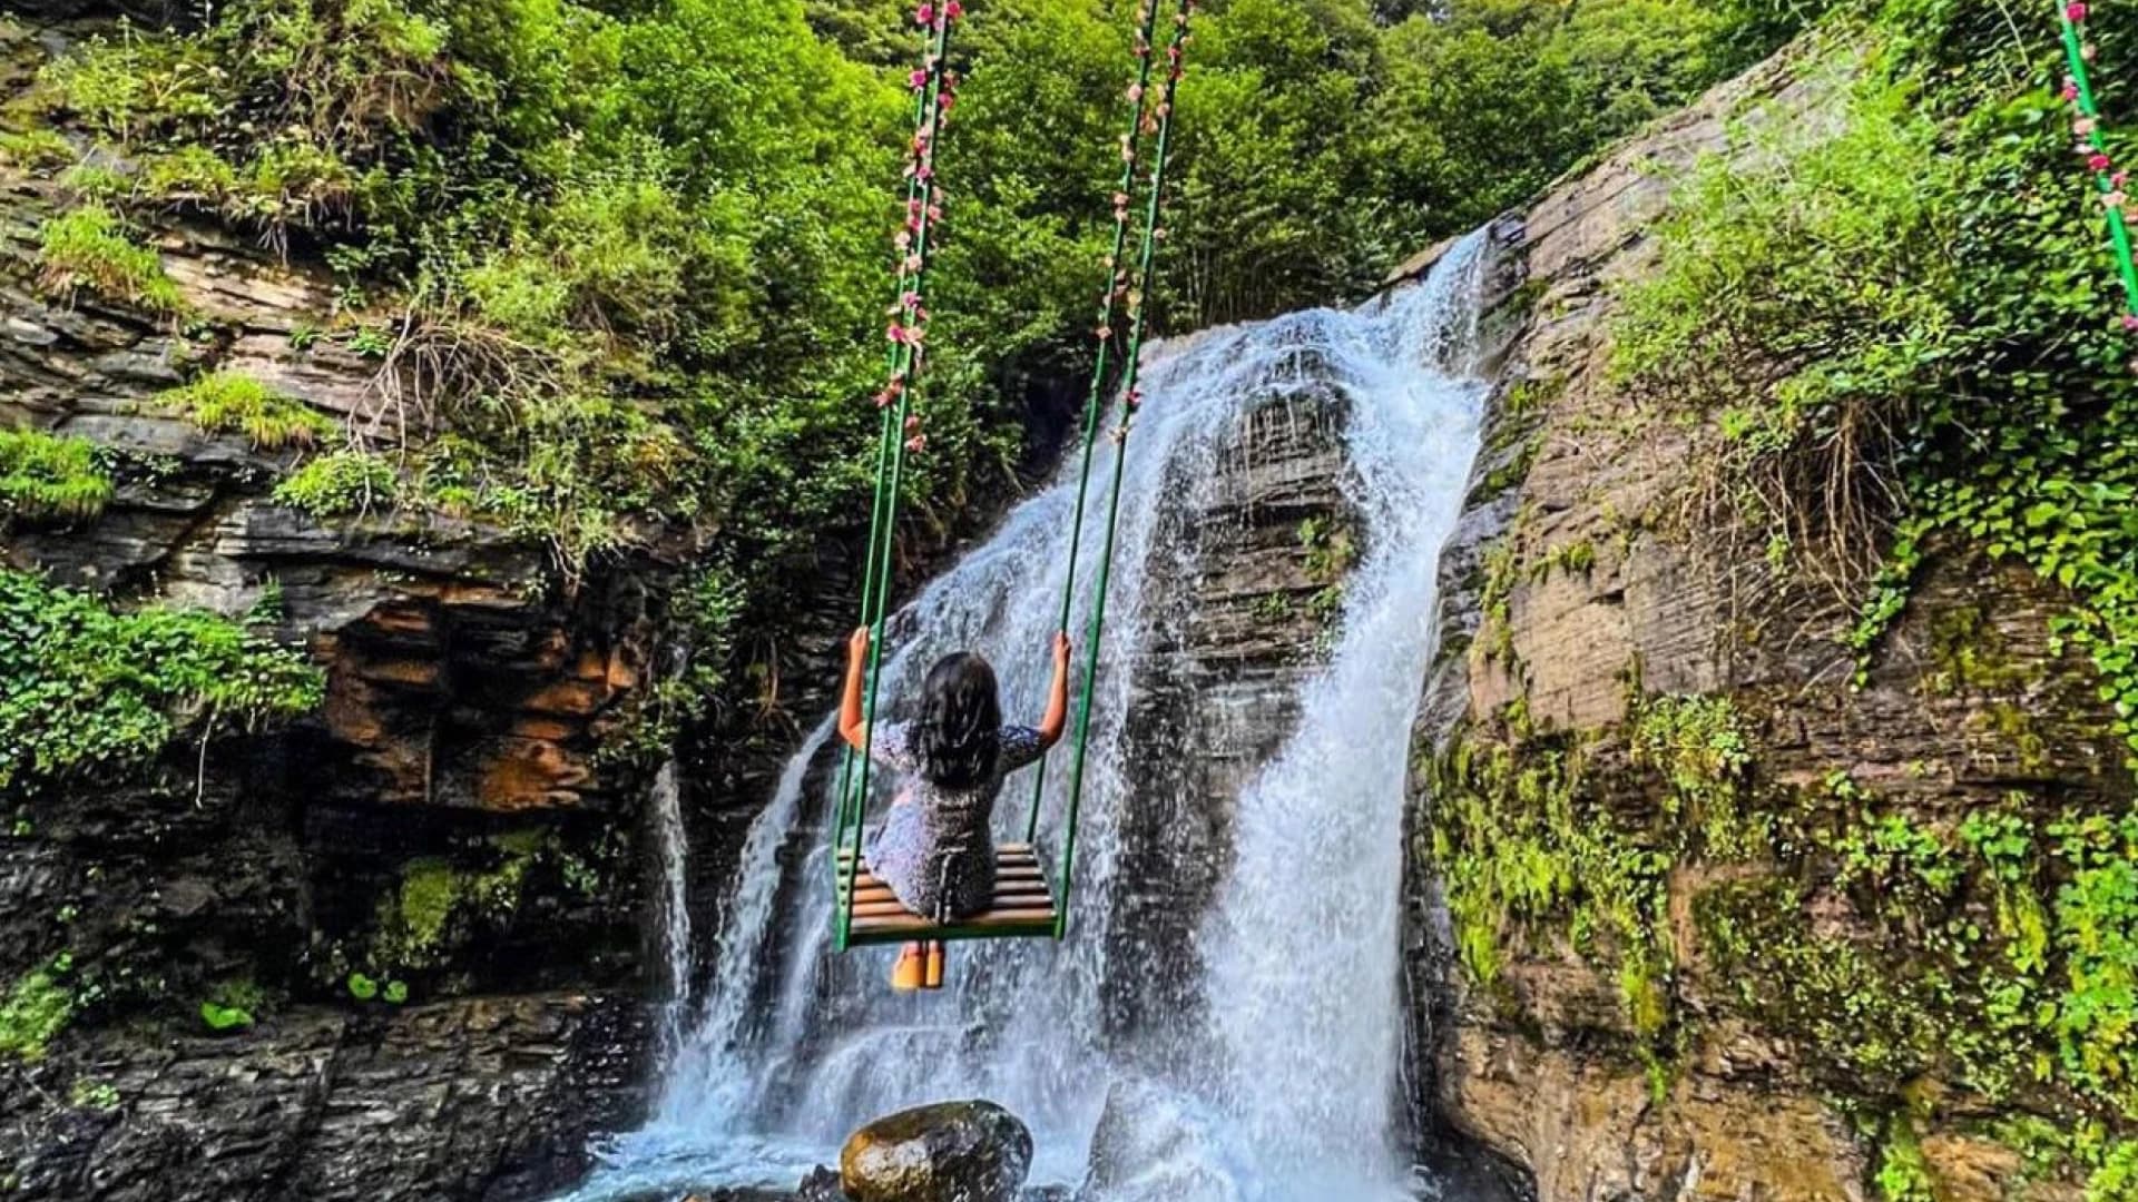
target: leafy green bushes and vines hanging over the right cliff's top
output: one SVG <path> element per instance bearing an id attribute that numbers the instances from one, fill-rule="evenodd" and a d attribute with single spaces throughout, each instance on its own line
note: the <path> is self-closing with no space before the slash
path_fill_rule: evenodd
<path id="1" fill-rule="evenodd" d="M 1627 295 L 1621 368 L 1710 415 L 1719 473 L 1753 481 L 1745 511 L 1798 545 L 1854 569 L 1896 528 L 1860 654 L 1933 535 L 2070 588 L 2057 633 L 2138 766 L 2138 383 L 2063 105 L 2033 73 L 2052 34 L 1986 0 L 1890 4 L 1837 111 L 1768 122 L 1762 154 L 1687 182 L 1663 272 Z M 2104 30 L 2119 49 L 2138 47 Z"/>

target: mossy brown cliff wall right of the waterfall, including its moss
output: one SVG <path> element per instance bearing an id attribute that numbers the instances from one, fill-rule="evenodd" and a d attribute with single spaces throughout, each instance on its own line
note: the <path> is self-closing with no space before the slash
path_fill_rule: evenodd
<path id="1" fill-rule="evenodd" d="M 1822 120 L 1804 62 L 1494 227 L 1527 282 L 1415 736 L 1420 1080 L 1548 1202 L 2134 1198 L 2134 789 L 2059 590 L 1939 543 L 1858 676 L 1856 601 L 1608 370 L 1672 175 Z"/>

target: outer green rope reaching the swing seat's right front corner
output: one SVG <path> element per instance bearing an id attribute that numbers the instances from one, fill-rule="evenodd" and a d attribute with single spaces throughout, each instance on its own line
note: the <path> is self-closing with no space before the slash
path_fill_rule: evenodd
<path id="1" fill-rule="evenodd" d="M 1157 0 L 1150 0 L 1152 4 Z M 1144 244 L 1137 255 L 1135 276 L 1127 289 L 1129 302 L 1129 344 L 1120 353 L 1120 396 L 1122 415 L 1120 426 L 1114 430 L 1114 481 L 1107 488 L 1105 500 L 1105 541 L 1099 550 L 1099 580 L 1093 582 L 1093 605 L 1090 605 L 1090 633 L 1084 639 L 1084 691 L 1078 697 L 1075 712 L 1075 749 L 1069 759 L 1069 813 L 1063 819 L 1063 858 L 1060 858 L 1060 903 L 1054 907 L 1054 939 L 1069 935 L 1069 890 L 1075 883 L 1071 873 L 1075 864 L 1075 823 L 1078 813 L 1084 802 L 1084 755 L 1090 742 L 1090 699 L 1099 687 L 1099 635 L 1105 631 L 1105 592 L 1107 580 L 1114 569 L 1114 533 L 1120 522 L 1120 477 L 1129 464 L 1129 430 L 1133 428 L 1137 391 L 1135 374 L 1144 349 L 1144 325 L 1150 314 L 1150 280 L 1152 261 L 1157 257 L 1157 244 L 1165 237 L 1159 227 L 1159 201 L 1165 195 L 1165 167 L 1169 163 L 1172 133 L 1174 133 L 1174 92 L 1180 86 L 1180 64 L 1189 43 L 1189 17 L 1195 13 L 1195 0 L 1178 0 L 1174 11 L 1174 36 L 1165 47 L 1165 86 L 1159 94 L 1157 107 L 1157 150 L 1150 163 L 1150 195 L 1144 199 Z M 1150 43 L 1144 41 L 1137 47 L 1148 68 Z M 1137 96 L 1137 128 L 1142 128 L 1142 96 Z M 1133 167 L 1133 163 L 1131 163 Z M 1107 289 L 1107 299 L 1112 302 L 1114 289 Z M 1093 385 L 1097 389 L 1097 383 Z M 1086 475 L 1090 473 L 1088 460 L 1088 438 L 1086 438 Z M 1075 571 L 1075 560 L 1069 560 L 1071 573 Z M 1067 625 L 1067 616 L 1065 622 Z M 1037 804 L 1033 806 L 1037 811 Z"/>

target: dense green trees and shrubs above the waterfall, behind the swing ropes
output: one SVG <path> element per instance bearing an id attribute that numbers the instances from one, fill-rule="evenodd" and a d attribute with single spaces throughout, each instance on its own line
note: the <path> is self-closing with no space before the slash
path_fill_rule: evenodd
<path id="1" fill-rule="evenodd" d="M 1375 17 L 1236 0 L 1199 19 L 1157 297 L 1176 325 L 1355 289 L 1794 28 L 1728 41 L 1757 21 L 1661 0 L 1462 0 L 1447 34 Z M 907 498 L 936 528 L 1009 475 L 1026 381 L 1088 353 L 1131 71 L 1101 0 L 1005 0 L 958 38 Z M 417 366 L 419 417 L 460 434 L 406 464 L 402 500 L 545 539 L 567 575 L 646 518 L 778 563 L 866 509 L 853 402 L 881 372 L 915 43 L 881 0 L 235 0 L 184 34 L 92 38 L 36 103 L 137 167 L 73 180 L 105 225 L 184 207 L 304 235 L 344 310 L 408 314 L 346 334 Z M 1499 103 L 1452 90 L 1471 62 Z M 778 586 L 733 582 L 753 603 Z"/>

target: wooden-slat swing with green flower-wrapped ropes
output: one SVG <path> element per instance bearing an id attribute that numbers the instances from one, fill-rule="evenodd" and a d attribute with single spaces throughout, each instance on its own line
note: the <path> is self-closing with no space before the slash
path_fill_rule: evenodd
<path id="1" fill-rule="evenodd" d="M 1105 627 L 1105 586 L 1114 560 L 1114 530 L 1120 515 L 1120 466 L 1129 449 L 1129 417 L 1140 394 L 1135 391 L 1137 353 L 1144 342 L 1144 304 L 1152 278 L 1152 257 L 1159 229 L 1159 197 L 1165 188 L 1167 148 L 1172 141 L 1174 90 L 1180 83 L 1182 51 L 1189 41 L 1189 15 L 1193 0 L 1176 0 L 1174 32 L 1165 47 L 1165 79 L 1159 88 L 1157 105 L 1144 103 L 1150 92 L 1152 34 L 1157 32 L 1159 0 L 1144 0 L 1140 28 L 1135 34 L 1137 75 L 1129 88 L 1131 118 L 1129 133 L 1120 139 L 1120 188 L 1114 192 L 1114 248 L 1105 259 L 1107 287 L 1099 306 L 1097 364 L 1093 366 L 1090 394 L 1084 402 L 1084 451 L 1078 475 L 1075 518 L 1069 535 L 1069 571 L 1063 584 L 1058 629 L 1069 629 L 1075 601 L 1075 563 L 1084 535 L 1084 503 L 1090 490 L 1093 447 L 1099 436 L 1099 417 L 1107 409 L 1107 351 L 1112 349 L 1114 310 L 1118 302 L 1129 308 L 1129 340 L 1122 351 L 1120 394 L 1125 413 L 1112 432 L 1116 445 L 1114 479 L 1107 490 L 1105 543 L 1099 554 L 1099 580 L 1093 588 L 1090 633 L 1084 652 L 1084 689 L 1078 695 L 1075 746 L 1069 761 L 1069 808 L 1063 815 L 1060 862 L 1048 883 L 1045 866 L 1039 860 L 1039 802 L 1045 789 L 1045 759 L 1033 768 L 1033 804 L 1024 821 L 1024 843 L 996 847 L 994 898 L 981 913 L 949 918 L 919 915 L 909 911 L 889 885 L 868 873 L 862 853 L 870 757 L 866 751 L 847 749 L 840 761 L 838 811 L 832 823 L 832 888 L 834 888 L 834 945 L 845 952 L 868 943 L 909 941 L 951 941 L 951 939 L 1063 939 L 1069 933 L 1069 883 L 1075 866 L 1078 808 L 1084 796 L 1084 755 L 1090 738 L 1093 682 L 1099 669 L 1099 642 Z M 887 355 L 889 383 L 877 394 L 877 409 L 883 413 L 877 436 L 877 490 L 868 524 L 868 567 L 862 575 L 862 625 L 870 629 L 868 646 L 868 693 L 864 721 L 868 740 L 874 740 L 877 684 L 883 667 L 883 618 L 892 592 L 892 539 L 898 526 L 898 492 L 904 477 L 907 453 L 919 453 L 926 438 L 919 432 L 919 417 L 913 413 L 913 396 L 919 383 L 924 357 L 921 329 L 928 312 L 921 306 L 928 282 L 928 252 L 934 222 L 941 220 L 941 190 L 934 182 L 934 143 L 943 130 L 943 118 L 951 107 L 954 77 L 945 64 L 949 49 L 949 28 L 962 15 L 958 0 L 941 6 L 924 0 L 917 13 L 928 28 L 926 58 L 913 73 L 915 124 L 913 158 L 907 167 L 907 227 L 898 235 L 902 255 L 898 269 L 898 304 L 892 306 L 887 329 L 892 349 Z M 1135 272 L 1122 267 L 1122 250 L 1129 237 L 1129 190 L 1137 186 L 1137 156 L 1144 135 L 1155 135 L 1148 192 L 1142 214 L 1142 248 Z M 1056 892 L 1058 890 L 1058 892 Z"/>

